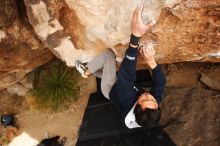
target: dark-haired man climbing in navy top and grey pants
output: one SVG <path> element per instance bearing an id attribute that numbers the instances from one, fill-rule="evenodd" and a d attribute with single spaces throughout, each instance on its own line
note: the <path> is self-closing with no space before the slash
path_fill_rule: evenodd
<path id="1" fill-rule="evenodd" d="M 143 23 L 142 10 L 143 6 L 138 6 L 133 12 L 129 47 L 117 75 L 115 55 L 110 49 L 88 62 L 87 66 L 80 61 L 75 63 L 84 78 L 90 74 L 101 78 L 103 95 L 112 101 L 128 128 L 158 126 L 161 116 L 158 104 L 161 102 L 165 86 L 165 76 L 155 61 L 152 44 L 141 46 L 138 44 L 140 37 L 154 25 L 153 21 L 148 24 Z M 152 70 L 153 87 L 149 93 L 134 86 L 138 52 Z"/>

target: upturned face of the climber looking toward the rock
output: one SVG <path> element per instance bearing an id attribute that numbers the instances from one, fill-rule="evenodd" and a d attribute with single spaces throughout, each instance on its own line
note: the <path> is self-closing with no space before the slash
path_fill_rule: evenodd
<path id="1" fill-rule="evenodd" d="M 150 109 L 158 109 L 158 103 L 156 99 L 150 93 L 142 93 L 141 96 L 138 97 L 137 103 L 144 110 L 145 108 Z"/>

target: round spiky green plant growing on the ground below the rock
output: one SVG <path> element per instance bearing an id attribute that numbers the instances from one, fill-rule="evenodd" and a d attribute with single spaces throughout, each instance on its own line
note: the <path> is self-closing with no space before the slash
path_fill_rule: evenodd
<path id="1" fill-rule="evenodd" d="M 76 80 L 62 62 L 55 61 L 45 68 L 37 71 L 33 93 L 40 106 L 57 111 L 77 99 Z"/>

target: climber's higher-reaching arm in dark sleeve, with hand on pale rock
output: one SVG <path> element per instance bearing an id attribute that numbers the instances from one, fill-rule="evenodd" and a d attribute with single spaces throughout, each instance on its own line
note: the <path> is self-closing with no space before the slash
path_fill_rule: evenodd
<path id="1" fill-rule="evenodd" d="M 143 5 L 135 9 L 131 20 L 131 37 L 129 47 L 125 53 L 125 57 L 118 71 L 118 84 L 120 87 L 128 87 L 134 85 L 136 80 L 136 63 L 138 56 L 138 42 L 140 37 L 153 26 L 153 22 L 144 24 L 141 18 Z"/>

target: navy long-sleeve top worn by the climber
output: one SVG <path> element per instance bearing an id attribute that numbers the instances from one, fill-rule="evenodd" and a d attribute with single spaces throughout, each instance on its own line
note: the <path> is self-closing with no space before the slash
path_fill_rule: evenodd
<path id="1" fill-rule="evenodd" d="M 137 44 L 138 40 L 139 38 L 131 36 L 131 42 L 133 41 Z M 137 57 L 138 49 L 129 46 L 119 71 L 117 72 L 117 81 L 109 93 L 110 100 L 120 111 L 123 118 L 126 117 L 138 99 L 138 90 L 134 85 L 136 81 Z M 151 88 L 150 93 L 154 96 L 157 102 L 160 103 L 166 82 L 165 76 L 159 65 L 152 70 L 152 74 L 153 87 Z"/>

